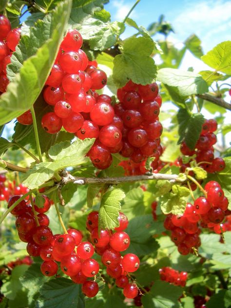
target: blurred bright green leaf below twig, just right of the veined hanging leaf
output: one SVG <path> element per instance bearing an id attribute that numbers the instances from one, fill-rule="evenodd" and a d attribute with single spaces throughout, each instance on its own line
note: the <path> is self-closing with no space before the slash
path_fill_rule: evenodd
<path id="1" fill-rule="evenodd" d="M 134 188 L 126 193 L 122 204 L 122 212 L 129 220 L 135 216 L 143 215 L 144 210 L 144 192 L 141 188 Z"/>

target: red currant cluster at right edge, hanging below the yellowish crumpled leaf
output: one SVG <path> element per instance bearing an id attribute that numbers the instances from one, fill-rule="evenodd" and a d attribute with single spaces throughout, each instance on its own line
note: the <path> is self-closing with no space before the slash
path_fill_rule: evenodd
<path id="1" fill-rule="evenodd" d="M 183 255 L 200 246 L 199 222 L 200 227 L 213 228 L 215 233 L 226 231 L 221 223 L 230 214 L 228 199 L 216 181 L 208 182 L 204 190 L 206 195 L 197 198 L 194 204 L 187 203 L 183 215 L 170 214 L 164 221 L 165 229 L 172 232 L 171 239 Z"/>

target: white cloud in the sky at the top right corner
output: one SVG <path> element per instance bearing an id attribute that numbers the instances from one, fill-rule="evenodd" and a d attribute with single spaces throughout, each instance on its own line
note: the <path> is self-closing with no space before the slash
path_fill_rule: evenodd
<path id="1" fill-rule="evenodd" d="M 187 38 L 195 33 L 207 52 L 223 40 L 230 39 L 231 1 L 202 0 L 186 2 L 173 20 L 178 36 Z"/>

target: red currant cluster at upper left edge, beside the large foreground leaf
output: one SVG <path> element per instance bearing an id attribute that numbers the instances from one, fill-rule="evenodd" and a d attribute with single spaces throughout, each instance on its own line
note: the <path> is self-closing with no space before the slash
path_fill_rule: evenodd
<path id="1" fill-rule="evenodd" d="M 11 30 L 10 20 L 0 15 L 0 93 L 6 92 L 9 79 L 6 76 L 6 66 L 11 61 L 12 53 L 19 43 L 21 30 Z"/>

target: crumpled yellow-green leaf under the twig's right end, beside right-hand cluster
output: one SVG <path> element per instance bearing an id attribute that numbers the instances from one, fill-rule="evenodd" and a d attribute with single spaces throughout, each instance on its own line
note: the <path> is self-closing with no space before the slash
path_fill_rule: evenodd
<path id="1" fill-rule="evenodd" d="M 166 193 L 161 198 L 161 210 L 164 214 L 173 213 L 174 215 L 182 215 L 185 211 L 187 197 L 190 190 L 186 187 L 173 185 L 172 192 Z"/>

